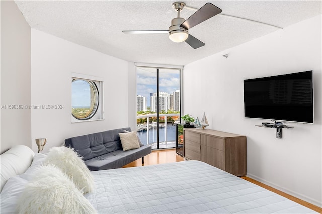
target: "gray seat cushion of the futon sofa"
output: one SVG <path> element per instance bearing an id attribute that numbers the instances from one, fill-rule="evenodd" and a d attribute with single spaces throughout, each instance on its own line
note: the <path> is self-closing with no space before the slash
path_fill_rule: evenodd
<path id="1" fill-rule="evenodd" d="M 135 161 L 145 155 L 151 153 L 151 146 L 141 146 L 138 149 L 132 149 L 128 151 L 117 150 L 108 154 L 101 155 L 99 157 L 86 160 L 85 164 L 91 171 L 104 170 L 104 169 L 116 169 L 120 168 L 132 161 Z"/>

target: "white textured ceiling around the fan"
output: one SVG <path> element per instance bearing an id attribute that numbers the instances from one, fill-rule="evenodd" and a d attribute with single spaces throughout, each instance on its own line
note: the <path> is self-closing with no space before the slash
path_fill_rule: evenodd
<path id="1" fill-rule="evenodd" d="M 186 65 L 280 28 L 321 14 L 321 1 L 184 1 L 200 8 L 211 2 L 222 14 L 191 28 L 206 45 L 193 49 L 167 34 L 122 30 L 168 30 L 177 16 L 174 1 L 15 1 L 29 25 L 79 45 L 132 62 Z M 185 8 L 187 19 L 195 11 Z"/>

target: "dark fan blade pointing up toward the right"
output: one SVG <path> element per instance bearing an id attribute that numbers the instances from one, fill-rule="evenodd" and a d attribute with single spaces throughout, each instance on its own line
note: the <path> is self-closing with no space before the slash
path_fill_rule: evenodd
<path id="1" fill-rule="evenodd" d="M 207 19 L 221 13 L 221 9 L 217 6 L 206 3 L 204 6 L 202 6 L 198 11 L 196 11 L 193 15 L 191 15 L 186 21 L 184 21 L 180 27 L 184 27 L 185 29 L 190 29 L 203 21 L 206 21 Z"/>

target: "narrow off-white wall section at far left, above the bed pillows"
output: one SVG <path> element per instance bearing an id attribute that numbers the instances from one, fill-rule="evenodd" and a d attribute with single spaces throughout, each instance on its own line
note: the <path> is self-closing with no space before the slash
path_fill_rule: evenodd
<path id="1" fill-rule="evenodd" d="M 14 1 L 1 1 L 1 153 L 31 147 L 30 26 Z"/>

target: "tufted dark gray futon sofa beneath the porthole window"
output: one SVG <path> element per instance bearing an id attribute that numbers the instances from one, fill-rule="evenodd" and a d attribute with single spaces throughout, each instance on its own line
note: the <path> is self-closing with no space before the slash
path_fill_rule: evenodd
<path id="1" fill-rule="evenodd" d="M 79 153 L 91 171 L 120 168 L 132 161 L 151 153 L 151 146 L 143 145 L 138 149 L 123 151 L 119 133 L 131 128 L 122 128 L 82 135 L 65 139 Z"/>

